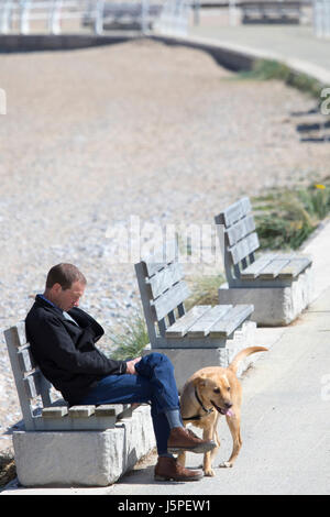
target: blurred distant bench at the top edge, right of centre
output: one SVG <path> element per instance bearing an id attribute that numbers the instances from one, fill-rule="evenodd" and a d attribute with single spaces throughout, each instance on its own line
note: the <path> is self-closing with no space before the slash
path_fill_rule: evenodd
<path id="1" fill-rule="evenodd" d="M 300 1 L 243 1 L 242 23 L 300 23 Z"/>

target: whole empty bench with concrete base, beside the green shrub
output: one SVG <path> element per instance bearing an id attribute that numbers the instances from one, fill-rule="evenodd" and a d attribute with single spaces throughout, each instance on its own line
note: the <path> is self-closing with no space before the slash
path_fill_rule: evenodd
<path id="1" fill-rule="evenodd" d="M 311 258 L 294 252 L 256 257 L 260 243 L 248 197 L 215 220 L 228 283 L 219 289 L 219 301 L 253 304 L 252 319 L 260 324 L 282 326 L 297 318 L 311 299 Z"/>

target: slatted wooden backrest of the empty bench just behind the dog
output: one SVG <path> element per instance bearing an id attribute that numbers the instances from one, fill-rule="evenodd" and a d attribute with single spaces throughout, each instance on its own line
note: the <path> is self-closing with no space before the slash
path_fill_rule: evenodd
<path id="1" fill-rule="evenodd" d="M 178 263 L 176 242 L 135 264 L 138 284 L 151 344 L 165 337 L 166 329 L 185 315 L 184 301 L 190 290 Z"/>

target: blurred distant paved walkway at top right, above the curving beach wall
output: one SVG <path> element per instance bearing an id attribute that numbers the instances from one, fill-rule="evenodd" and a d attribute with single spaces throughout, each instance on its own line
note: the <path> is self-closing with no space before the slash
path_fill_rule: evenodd
<path id="1" fill-rule="evenodd" d="M 219 14 L 220 13 L 220 14 Z M 191 24 L 189 38 L 217 42 L 229 48 L 285 62 L 330 84 L 329 40 L 318 38 L 308 25 L 229 26 L 220 11 L 205 10 L 198 25 Z"/>

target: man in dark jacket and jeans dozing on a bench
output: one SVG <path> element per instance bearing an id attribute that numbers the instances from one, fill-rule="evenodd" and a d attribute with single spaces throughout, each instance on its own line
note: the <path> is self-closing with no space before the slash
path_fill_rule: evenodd
<path id="1" fill-rule="evenodd" d="M 165 354 L 113 361 L 95 343 L 102 327 L 78 308 L 86 278 L 73 264 L 51 268 L 44 294 L 25 319 L 26 338 L 44 376 L 69 406 L 151 403 L 158 461 L 155 479 L 197 481 L 202 471 L 180 466 L 172 452 L 205 453 L 216 447 L 182 422 L 174 367 Z"/>

